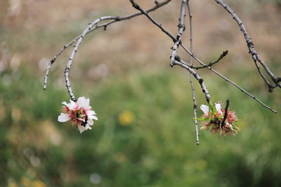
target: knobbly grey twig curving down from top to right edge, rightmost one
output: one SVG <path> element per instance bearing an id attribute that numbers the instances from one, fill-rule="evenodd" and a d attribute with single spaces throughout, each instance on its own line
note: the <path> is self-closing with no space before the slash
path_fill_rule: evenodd
<path id="1" fill-rule="evenodd" d="M 268 68 L 266 63 L 263 62 L 263 60 L 261 60 L 261 58 L 259 57 L 259 54 L 256 53 L 256 50 L 254 49 L 254 43 L 253 43 L 253 41 L 251 41 L 251 37 L 249 36 L 247 29 L 244 27 L 242 21 L 236 15 L 235 11 L 233 11 L 223 0 L 215 0 L 215 1 L 217 4 L 220 4 L 221 6 L 223 6 L 223 8 L 225 8 L 226 11 L 228 11 L 228 13 L 230 13 L 230 15 L 232 15 L 235 22 L 237 22 L 237 24 L 239 25 L 240 30 L 241 30 L 242 34 L 244 35 L 244 38 L 247 42 L 247 46 L 249 48 L 249 53 L 251 54 L 251 57 L 254 60 L 256 68 L 258 69 L 259 74 L 263 78 L 263 81 L 265 81 L 265 83 L 268 85 L 268 90 L 270 92 L 272 92 L 273 89 L 276 88 L 277 86 L 279 86 L 281 88 L 280 81 L 278 81 L 278 78 L 270 71 L 270 69 Z M 259 62 L 263 66 L 263 68 L 266 70 L 266 73 L 268 74 L 268 76 L 270 76 L 271 80 L 275 83 L 275 85 L 270 84 L 270 82 L 268 81 L 266 76 L 264 76 L 263 73 L 261 72 L 261 69 L 259 67 L 259 64 L 257 64 L 257 62 Z"/>

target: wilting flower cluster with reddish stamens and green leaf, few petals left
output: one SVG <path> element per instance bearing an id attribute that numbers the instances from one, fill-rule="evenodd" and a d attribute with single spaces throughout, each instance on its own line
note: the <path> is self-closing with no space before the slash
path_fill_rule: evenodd
<path id="1" fill-rule="evenodd" d="M 204 112 L 202 118 L 201 130 L 209 130 L 211 134 L 218 134 L 218 137 L 221 137 L 221 134 L 225 136 L 227 134 L 233 134 L 234 136 L 238 134 L 240 128 L 235 124 L 237 121 L 237 116 L 233 111 L 227 111 L 226 119 L 223 121 L 225 116 L 225 109 L 221 109 L 220 103 L 209 104 L 209 106 L 202 104 L 200 109 Z"/>

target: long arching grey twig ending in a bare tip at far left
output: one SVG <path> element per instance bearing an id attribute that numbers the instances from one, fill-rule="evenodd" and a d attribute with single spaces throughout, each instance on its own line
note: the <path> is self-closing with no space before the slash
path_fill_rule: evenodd
<path id="1" fill-rule="evenodd" d="M 160 2 L 160 3 L 157 2 L 157 1 L 155 1 L 155 6 L 153 6 L 152 8 L 149 8 L 148 10 L 146 10 L 146 12 L 150 13 L 150 12 L 152 12 L 152 11 L 155 11 L 157 8 L 160 8 L 160 7 L 162 7 L 162 6 L 166 5 L 166 4 L 169 4 L 170 1 L 171 1 L 171 0 L 166 0 L 166 1 L 162 1 L 162 2 Z M 142 15 L 142 14 L 143 14 L 143 13 L 139 13 L 139 12 L 138 12 L 138 13 L 133 13 L 133 14 L 130 14 L 130 15 L 125 15 L 125 16 L 122 16 L 122 17 L 116 17 L 116 18 L 117 18 L 116 20 L 110 20 L 109 22 L 105 22 L 105 23 L 103 23 L 103 24 L 96 25 L 95 27 L 89 29 L 89 30 L 86 32 L 86 34 L 89 34 L 89 33 L 93 32 L 94 30 L 96 30 L 96 29 L 98 29 L 98 28 L 100 28 L 100 27 L 103 27 L 104 29 L 106 29 L 108 25 L 111 25 L 111 24 L 114 23 L 114 22 L 119 22 L 119 21 L 122 21 L 122 20 L 129 20 L 129 19 L 131 19 L 131 18 L 134 18 L 134 17 L 136 17 L 136 16 L 138 16 L 138 15 Z M 85 34 L 85 35 L 86 35 L 86 34 Z M 61 48 L 60 51 L 59 51 L 59 52 L 52 58 L 52 60 L 48 63 L 48 67 L 47 67 L 47 69 L 46 69 L 46 75 L 45 75 L 45 78 L 44 78 L 44 90 L 46 90 L 46 88 L 47 88 L 48 74 L 49 74 L 49 71 L 50 71 L 50 69 L 51 69 L 52 64 L 55 62 L 55 60 L 58 59 L 58 57 L 60 57 L 60 55 L 63 54 L 63 52 L 64 52 L 68 47 L 72 46 L 73 43 L 74 43 L 75 41 L 77 41 L 77 39 L 80 38 L 80 36 L 81 36 L 81 35 L 75 37 L 72 41 L 70 41 L 70 42 L 67 43 L 65 46 L 63 46 L 63 48 Z"/>

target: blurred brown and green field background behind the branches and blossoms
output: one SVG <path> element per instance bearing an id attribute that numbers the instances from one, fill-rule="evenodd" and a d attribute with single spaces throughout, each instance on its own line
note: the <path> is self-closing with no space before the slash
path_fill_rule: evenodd
<path id="1" fill-rule="evenodd" d="M 226 2 L 280 75 L 280 1 Z M 176 33 L 179 7 L 173 1 L 152 15 Z M 214 99 L 230 99 L 242 131 L 221 139 L 200 131 L 196 146 L 189 75 L 169 67 L 172 41 L 144 17 L 86 36 L 71 80 L 99 120 L 83 134 L 58 123 L 70 51 L 43 90 L 48 60 L 91 20 L 133 12 L 126 0 L 0 1 L 0 186 L 281 186 L 280 114 L 201 70 Z M 267 92 L 233 19 L 211 0 L 192 1 L 192 12 L 197 57 L 209 62 L 229 50 L 214 68 L 280 113 L 281 92 Z M 196 88 L 197 104 L 206 104 Z"/>

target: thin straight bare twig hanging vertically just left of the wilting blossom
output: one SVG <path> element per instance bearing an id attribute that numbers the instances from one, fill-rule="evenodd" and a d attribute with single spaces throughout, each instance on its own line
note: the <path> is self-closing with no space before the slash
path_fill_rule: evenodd
<path id="1" fill-rule="evenodd" d="M 190 51 L 193 53 L 193 27 L 192 27 L 192 14 L 190 10 L 189 0 L 187 2 L 188 6 L 188 17 L 189 17 L 189 28 L 190 28 Z M 189 65 L 192 65 L 192 57 L 189 55 Z M 190 87 L 191 87 L 191 94 L 192 94 L 192 101 L 193 101 L 193 117 L 194 117 L 194 124 L 195 124 L 195 134 L 196 134 L 196 144 L 199 145 L 199 131 L 198 131 L 198 122 L 197 122 L 197 103 L 195 97 L 195 87 L 193 83 L 192 74 L 190 74 Z"/>

